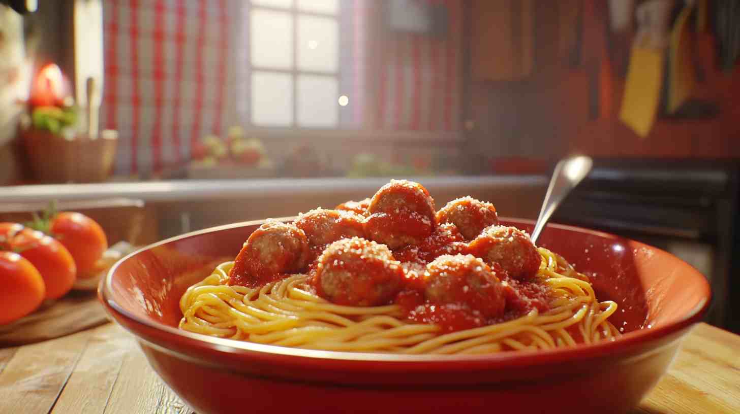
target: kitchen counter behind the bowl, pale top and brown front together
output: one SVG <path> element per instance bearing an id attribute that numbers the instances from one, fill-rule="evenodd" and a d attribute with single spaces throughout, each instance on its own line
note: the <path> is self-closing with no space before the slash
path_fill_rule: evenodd
<path id="1" fill-rule="evenodd" d="M 548 186 L 548 177 L 539 175 L 409 179 L 422 183 L 437 207 L 469 195 L 494 203 L 501 216 L 526 219 L 537 217 Z M 0 187 L 0 213 L 42 210 L 50 200 L 57 200 L 62 210 L 140 206 L 154 223 L 150 227 L 156 235 L 146 240 L 149 243 L 215 225 L 295 216 L 319 206 L 362 200 L 389 180 L 335 177 L 8 186 Z M 116 213 L 104 217 L 116 217 Z M 115 220 L 101 220 L 107 231 L 114 231 L 115 224 Z"/>

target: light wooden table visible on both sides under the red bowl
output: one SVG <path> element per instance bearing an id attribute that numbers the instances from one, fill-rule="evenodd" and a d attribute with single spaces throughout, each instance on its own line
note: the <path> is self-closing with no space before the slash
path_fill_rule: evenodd
<path id="1" fill-rule="evenodd" d="M 700 324 L 632 414 L 740 413 L 740 336 Z M 0 413 L 192 413 L 107 323 L 0 349 Z"/>

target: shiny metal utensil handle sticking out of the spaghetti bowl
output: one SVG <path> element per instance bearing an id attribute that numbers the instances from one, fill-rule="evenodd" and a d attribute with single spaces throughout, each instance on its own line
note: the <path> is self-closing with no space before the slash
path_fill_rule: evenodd
<path id="1" fill-rule="evenodd" d="M 548 192 L 545 194 L 545 200 L 542 201 L 542 210 L 539 211 L 537 223 L 534 225 L 534 231 L 532 231 L 531 240 L 533 243 L 537 242 L 539 234 L 542 233 L 545 224 L 548 223 L 562 200 L 565 200 L 571 190 L 588 175 L 592 166 L 593 160 L 585 155 L 568 157 L 557 163 L 548 186 Z"/>

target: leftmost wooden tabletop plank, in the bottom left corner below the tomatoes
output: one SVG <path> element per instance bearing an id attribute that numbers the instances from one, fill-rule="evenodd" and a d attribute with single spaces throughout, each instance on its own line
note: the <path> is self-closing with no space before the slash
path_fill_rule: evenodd
<path id="1" fill-rule="evenodd" d="M 0 413 L 48 413 L 67 384 L 90 331 L 19 347 L 0 373 Z"/>

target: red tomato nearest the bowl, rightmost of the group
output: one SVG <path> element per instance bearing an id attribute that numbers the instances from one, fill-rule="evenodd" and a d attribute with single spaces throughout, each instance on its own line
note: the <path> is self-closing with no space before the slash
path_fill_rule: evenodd
<path id="1" fill-rule="evenodd" d="M 84 214 L 65 211 L 54 216 L 49 230 L 72 254 L 78 277 L 95 276 L 96 263 L 108 248 L 103 228 Z"/>

